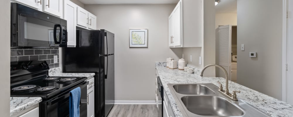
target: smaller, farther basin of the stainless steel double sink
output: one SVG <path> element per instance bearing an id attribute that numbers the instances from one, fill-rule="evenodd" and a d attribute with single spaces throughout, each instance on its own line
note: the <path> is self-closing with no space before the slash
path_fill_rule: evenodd
<path id="1" fill-rule="evenodd" d="M 199 84 L 178 84 L 173 85 L 173 88 L 177 93 L 185 95 L 210 95 L 215 93 L 208 87 Z"/>

